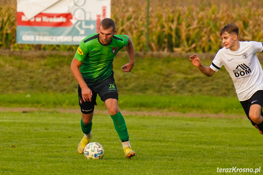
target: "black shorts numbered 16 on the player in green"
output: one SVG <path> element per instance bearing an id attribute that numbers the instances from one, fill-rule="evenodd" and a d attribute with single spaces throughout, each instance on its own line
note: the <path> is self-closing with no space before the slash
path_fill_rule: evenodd
<path id="1" fill-rule="evenodd" d="M 91 89 L 91 92 L 92 92 L 91 102 L 87 100 L 86 102 L 84 102 L 84 100 L 82 99 L 80 86 L 78 88 L 79 105 L 80 105 L 80 110 L 83 114 L 92 113 L 92 111 L 94 110 L 94 106 L 97 105 L 96 103 L 97 94 L 101 97 L 101 100 L 103 102 L 105 102 L 107 99 L 110 99 L 110 98 L 113 98 L 116 100 L 118 100 L 119 98 L 117 87 L 116 87 L 115 80 L 113 77 L 110 77 L 94 86 L 91 86 L 88 83 L 87 85 Z"/>

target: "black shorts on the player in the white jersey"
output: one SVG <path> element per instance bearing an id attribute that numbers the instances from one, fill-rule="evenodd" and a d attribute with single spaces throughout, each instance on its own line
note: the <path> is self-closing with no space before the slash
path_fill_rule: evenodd
<path id="1" fill-rule="evenodd" d="M 262 112 L 262 107 L 263 107 L 263 90 L 258 90 L 257 92 L 255 92 L 250 99 L 245 100 L 245 101 L 240 101 L 246 115 L 247 118 L 250 120 L 251 124 L 253 124 L 253 126 L 255 126 L 256 124 L 251 121 L 251 119 L 249 118 L 249 110 L 251 105 L 253 104 L 258 104 L 261 106 L 261 116 L 263 116 L 263 112 Z"/>

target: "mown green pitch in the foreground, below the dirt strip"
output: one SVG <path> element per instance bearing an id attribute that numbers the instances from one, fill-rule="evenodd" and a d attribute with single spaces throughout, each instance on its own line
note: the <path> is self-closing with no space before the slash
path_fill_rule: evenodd
<path id="1" fill-rule="evenodd" d="M 102 160 L 77 153 L 80 114 L 0 112 L 0 174 L 218 174 L 259 168 L 262 136 L 243 118 L 125 116 L 136 156 L 127 159 L 109 115 L 93 118 Z"/>

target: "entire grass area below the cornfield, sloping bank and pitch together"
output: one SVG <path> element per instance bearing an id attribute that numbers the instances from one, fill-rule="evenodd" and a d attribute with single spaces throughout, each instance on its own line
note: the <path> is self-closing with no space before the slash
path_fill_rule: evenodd
<path id="1" fill-rule="evenodd" d="M 105 156 L 91 161 L 76 149 L 83 133 L 73 53 L 9 53 L 0 53 L 0 174 L 203 175 L 261 167 L 262 135 L 246 119 L 224 68 L 207 78 L 188 61 L 191 54 L 156 53 L 136 56 L 126 74 L 120 67 L 127 57 L 115 58 L 119 107 L 136 156 L 125 157 L 98 97 L 92 142 Z M 206 54 L 201 58 L 211 64 Z"/>

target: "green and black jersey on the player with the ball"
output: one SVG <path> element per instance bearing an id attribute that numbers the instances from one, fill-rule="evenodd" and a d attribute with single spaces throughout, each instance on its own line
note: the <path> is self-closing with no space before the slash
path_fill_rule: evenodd
<path id="1" fill-rule="evenodd" d="M 75 58 L 82 62 L 80 72 L 85 82 L 97 84 L 111 77 L 113 58 L 128 44 L 128 40 L 126 35 L 114 35 L 110 44 L 103 45 L 99 41 L 99 33 L 84 38 Z"/>

